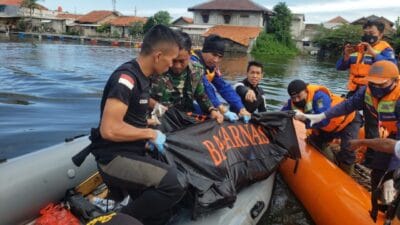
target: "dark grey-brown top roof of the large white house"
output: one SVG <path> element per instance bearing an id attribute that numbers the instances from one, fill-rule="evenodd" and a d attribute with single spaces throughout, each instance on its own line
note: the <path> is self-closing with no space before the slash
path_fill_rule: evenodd
<path id="1" fill-rule="evenodd" d="M 198 10 L 230 10 L 230 11 L 256 11 L 271 12 L 269 9 L 258 5 L 250 0 L 213 0 L 188 9 L 189 11 Z"/>

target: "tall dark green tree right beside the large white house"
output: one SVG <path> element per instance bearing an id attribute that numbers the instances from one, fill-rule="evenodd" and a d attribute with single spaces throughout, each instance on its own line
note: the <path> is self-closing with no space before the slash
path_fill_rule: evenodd
<path id="1" fill-rule="evenodd" d="M 274 15 L 268 21 L 267 33 L 274 34 L 277 41 L 288 46 L 294 46 L 292 36 L 290 34 L 290 26 L 292 24 L 292 13 L 286 6 L 286 3 L 280 2 L 273 8 Z"/>

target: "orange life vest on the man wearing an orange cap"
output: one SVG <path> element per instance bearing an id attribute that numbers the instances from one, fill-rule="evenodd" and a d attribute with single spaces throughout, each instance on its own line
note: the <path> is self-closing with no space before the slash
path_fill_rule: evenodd
<path id="1" fill-rule="evenodd" d="M 396 87 L 381 99 L 373 97 L 369 87 L 365 91 L 364 102 L 366 108 L 378 119 L 381 137 L 395 135 L 398 132 L 396 124 L 400 118 L 396 116 L 396 105 L 399 99 L 400 80 L 397 81 Z"/>

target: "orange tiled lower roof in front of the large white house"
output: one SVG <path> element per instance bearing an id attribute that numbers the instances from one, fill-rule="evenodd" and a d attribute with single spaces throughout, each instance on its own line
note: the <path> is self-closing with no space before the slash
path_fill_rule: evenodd
<path id="1" fill-rule="evenodd" d="M 216 25 L 208 29 L 203 36 L 217 34 L 243 46 L 249 46 L 250 39 L 258 37 L 262 28 L 230 25 Z"/>

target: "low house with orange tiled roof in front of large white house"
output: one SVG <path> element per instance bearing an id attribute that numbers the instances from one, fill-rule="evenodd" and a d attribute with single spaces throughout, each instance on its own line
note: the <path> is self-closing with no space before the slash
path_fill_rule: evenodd
<path id="1" fill-rule="evenodd" d="M 208 29 L 204 33 L 204 36 L 217 34 L 227 40 L 225 42 L 225 49 L 229 52 L 248 53 L 261 31 L 261 27 L 216 25 Z"/>

